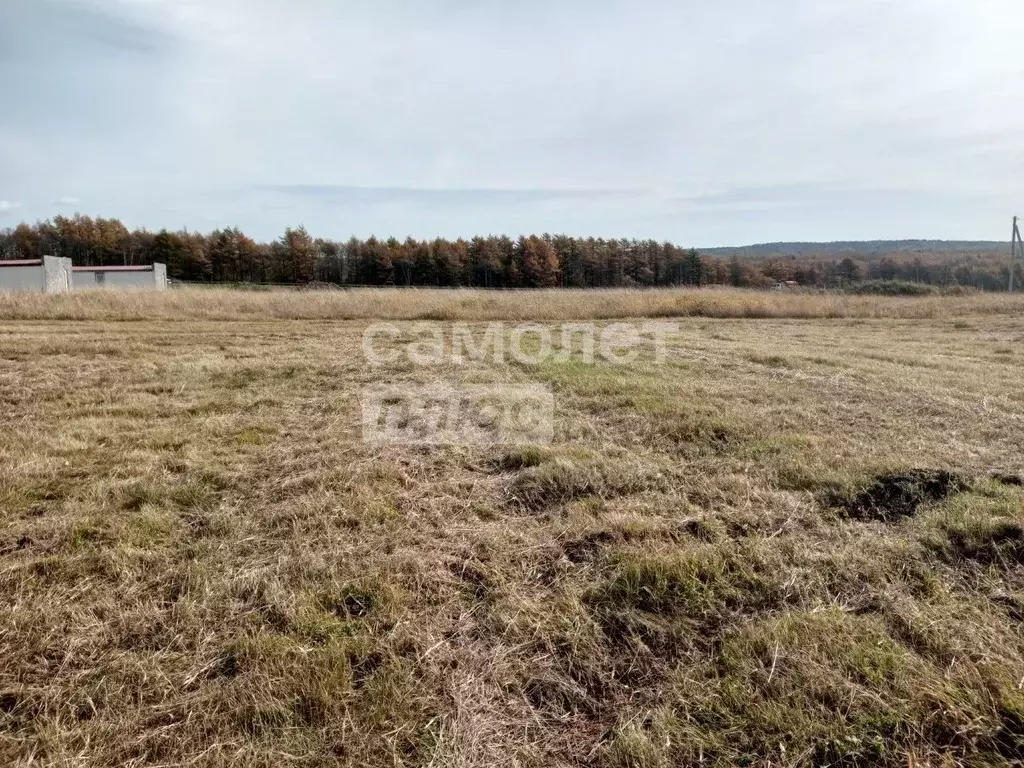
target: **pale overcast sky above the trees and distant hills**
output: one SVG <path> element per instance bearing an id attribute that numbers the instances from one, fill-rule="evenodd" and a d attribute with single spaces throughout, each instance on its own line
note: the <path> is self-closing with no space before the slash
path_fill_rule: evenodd
<path id="1" fill-rule="evenodd" d="M 1024 214 L 1020 0 L 0 0 L 0 227 L 712 246 Z"/>

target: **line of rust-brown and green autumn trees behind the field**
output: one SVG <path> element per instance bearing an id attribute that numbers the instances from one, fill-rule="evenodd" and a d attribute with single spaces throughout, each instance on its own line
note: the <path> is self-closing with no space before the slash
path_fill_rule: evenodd
<path id="1" fill-rule="evenodd" d="M 130 230 L 116 218 L 56 216 L 0 230 L 0 259 L 70 257 L 84 266 L 162 262 L 173 280 L 196 283 L 335 284 L 479 288 L 612 288 L 731 285 L 765 288 L 793 281 L 841 287 L 864 280 L 1005 290 L 1006 256 L 996 252 L 877 253 L 827 250 L 728 257 L 653 240 L 565 234 L 471 240 L 314 238 L 289 227 L 260 243 L 238 227 L 208 233 Z M 1022 269 L 1022 265 L 1018 265 Z M 1024 285 L 1024 273 L 1021 282 Z"/>

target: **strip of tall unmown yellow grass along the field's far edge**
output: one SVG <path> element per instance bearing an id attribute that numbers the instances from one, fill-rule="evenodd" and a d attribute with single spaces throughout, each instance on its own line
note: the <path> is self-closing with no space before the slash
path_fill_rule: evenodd
<path id="1" fill-rule="evenodd" d="M 91 291 L 0 293 L 0 319 L 432 319 L 549 321 L 614 317 L 893 317 L 1021 314 L 1024 294 L 887 297 L 737 289 L 477 291 L 356 289 L 162 294 Z"/>

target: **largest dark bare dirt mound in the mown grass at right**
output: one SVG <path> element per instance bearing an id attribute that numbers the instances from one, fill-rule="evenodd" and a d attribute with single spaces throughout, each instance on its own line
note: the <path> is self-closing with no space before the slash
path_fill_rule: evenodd
<path id="1" fill-rule="evenodd" d="M 923 504 L 945 501 L 953 494 L 967 490 L 970 485 L 967 478 L 955 472 L 912 469 L 882 475 L 870 487 L 842 501 L 839 506 L 855 520 L 892 522 L 913 517 Z"/>

